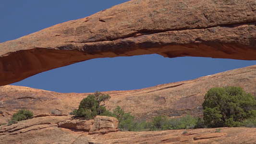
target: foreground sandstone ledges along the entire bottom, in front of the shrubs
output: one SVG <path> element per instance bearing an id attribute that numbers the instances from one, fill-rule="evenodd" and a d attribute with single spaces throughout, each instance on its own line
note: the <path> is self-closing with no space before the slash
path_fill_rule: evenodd
<path id="1" fill-rule="evenodd" d="M 47 116 L 0 126 L 1 144 L 255 144 L 255 128 L 90 133 L 58 127 L 68 116 Z"/>

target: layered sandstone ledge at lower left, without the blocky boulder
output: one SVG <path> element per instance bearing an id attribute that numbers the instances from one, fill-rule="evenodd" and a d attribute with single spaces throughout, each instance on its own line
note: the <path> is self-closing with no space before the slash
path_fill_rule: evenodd
<path id="1" fill-rule="evenodd" d="M 0 126 L 0 144 L 89 144 L 86 132 L 58 127 L 71 116 L 46 116 Z M 87 132 L 88 133 L 88 132 Z"/>

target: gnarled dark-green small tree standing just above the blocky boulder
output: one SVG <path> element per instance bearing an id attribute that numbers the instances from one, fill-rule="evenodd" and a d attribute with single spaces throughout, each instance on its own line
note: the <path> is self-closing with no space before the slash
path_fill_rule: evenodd
<path id="1" fill-rule="evenodd" d="M 94 119 L 97 115 L 106 114 L 107 110 L 101 102 L 110 99 L 110 95 L 105 95 L 100 92 L 95 92 L 94 95 L 89 95 L 81 100 L 79 108 L 73 110 L 73 115 L 84 117 L 86 120 Z"/>

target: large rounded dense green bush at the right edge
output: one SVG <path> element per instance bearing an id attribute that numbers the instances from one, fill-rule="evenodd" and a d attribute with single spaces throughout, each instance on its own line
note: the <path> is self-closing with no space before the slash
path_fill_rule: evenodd
<path id="1" fill-rule="evenodd" d="M 211 88 L 203 108 L 207 127 L 236 127 L 241 121 L 256 117 L 256 100 L 241 87 Z"/>

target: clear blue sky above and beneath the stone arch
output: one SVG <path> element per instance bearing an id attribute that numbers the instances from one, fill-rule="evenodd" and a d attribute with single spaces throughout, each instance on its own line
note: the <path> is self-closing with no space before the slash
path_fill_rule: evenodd
<path id="1" fill-rule="evenodd" d="M 128 0 L 0 0 L 0 43 Z M 12 85 L 62 93 L 140 89 L 255 65 L 256 61 L 142 55 L 87 60 Z"/>

